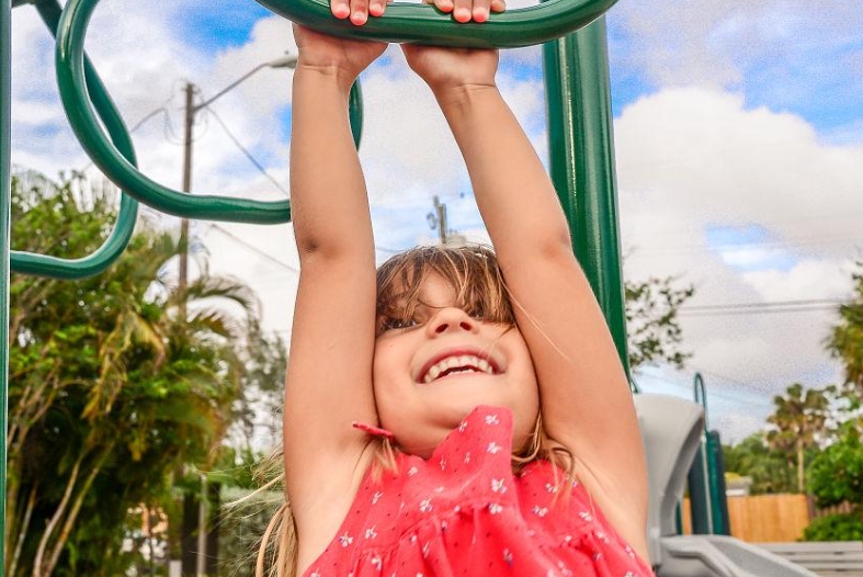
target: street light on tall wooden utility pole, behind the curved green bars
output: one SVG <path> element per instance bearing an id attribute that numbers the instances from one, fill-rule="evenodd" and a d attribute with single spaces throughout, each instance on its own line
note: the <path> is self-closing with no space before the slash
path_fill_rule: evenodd
<path id="1" fill-rule="evenodd" d="M 195 95 L 195 84 L 192 82 L 185 83 L 185 124 L 183 131 L 183 192 L 190 192 L 192 190 L 192 133 L 194 132 L 195 125 L 195 114 L 197 114 L 203 109 L 209 106 L 213 102 L 217 99 L 230 92 L 235 88 L 237 88 L 241 82 L 243 82 L 247 78 L 254 75 L 259 70 L 264 68 L 296 68 L 297 65 L 297 56 L 291 53 L 285 53 L 284 56 L 281 56 L 274 60 L 269 63 L 263 63 L 241 77 L 237 80 L 225 87 L 224 89 L 216 92 L 212 98 L 205 100 L 200 104 L 194 103 L 194 95 Z M 180 279 L 177 283 L 177 291 L 180 296 L 180 306 L 179 306 L 179 315 L 180 318 L 185 321 L 186 318 L 186 308 L 185 308 L 185 293 L 186 286 L 189 284 L 189 219 L 183 218 L 180 222 Z"/>

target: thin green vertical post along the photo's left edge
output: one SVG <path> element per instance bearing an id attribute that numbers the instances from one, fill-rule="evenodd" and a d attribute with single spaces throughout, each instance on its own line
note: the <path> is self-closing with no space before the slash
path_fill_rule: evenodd
<path id="1" fill-rule="evenodd" d="M 0 538 L 5 542 L 5 442 L 9 411 L 9 242 L 12 181 L 12 1 L 0 0 Z M 5 567 L 0 546 L 0 575 Z"/>

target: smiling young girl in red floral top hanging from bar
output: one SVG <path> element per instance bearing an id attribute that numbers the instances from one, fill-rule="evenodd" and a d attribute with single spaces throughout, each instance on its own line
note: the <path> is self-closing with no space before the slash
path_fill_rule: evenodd
<path id="1" fill-rule="evenodd" d="M 333 0 L 333 14 L 362 24 L 384 9 L 351 1 Z M 479 21 L 502 10 L 447 1 Z M 452 127 L 497 257 L 422 248 L 376 273 L 347 111 L 385 46 L 296 38 L 302 272 L 275 570 L 652 575 L 629 388 L 554 188 L 496 87 L 497 52 L 404 46 Z"/>

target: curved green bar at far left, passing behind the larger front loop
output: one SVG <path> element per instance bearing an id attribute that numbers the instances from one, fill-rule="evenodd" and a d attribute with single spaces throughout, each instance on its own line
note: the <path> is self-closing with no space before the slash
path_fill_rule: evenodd
<path id="1" fill-rule="evenodd" d="M 45 1 L 36 4 L 42 20 L 52 34 L 57 34 L 57 22 L 60 18 L 60 5 L 56 1 Z M 87 83 L 94 94 L 95 108 L 99 116 L 104 122 L 112 138 L 117 144 L 123 155 L 135 162 L 135 149 L 129 139 L 123 120 L 114 103 L 107 95 L 102 81 L 99 79 L 89 60 L 84 61 Z M 47 254 L 12 251 L 11 267 L 13 272 L 47 276 L 52 279 L 83 279 L 99 274 L 107 269 L 125 250 L 132 234 L 135 230 L 135 220 L 138 216 L 138 203 L 130 196 L 123 194 L 117 212 L 117 222 L 104 244 L 92 254 L 82 259 L 60 259 Z"/>

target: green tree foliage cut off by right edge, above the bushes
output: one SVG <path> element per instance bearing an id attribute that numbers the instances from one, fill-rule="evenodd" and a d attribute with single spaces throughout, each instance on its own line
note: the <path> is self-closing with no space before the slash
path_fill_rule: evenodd
<path id="1" fill-rule="evenodd" d="M 852 274 L 854 296 L 839 307 L 839 323 L 827 339 L 827 350 L 845 366 L 845 382 L 863 395 L 863 261 Z"/>

